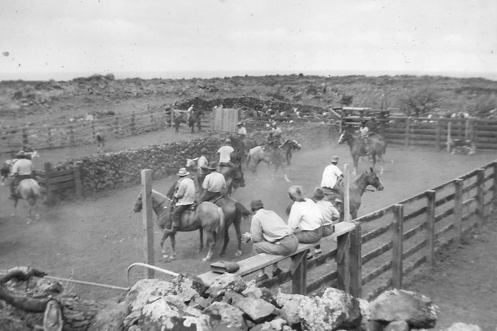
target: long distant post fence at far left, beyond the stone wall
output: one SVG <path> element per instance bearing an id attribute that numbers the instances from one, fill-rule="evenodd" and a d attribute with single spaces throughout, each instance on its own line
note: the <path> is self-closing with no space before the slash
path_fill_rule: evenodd
<path id="1" fill-rule="evenodd" d="M 2 128 L 0 153 L 12 153 L 27 145 L 39 150 L 95 143 L 95 135 L 99 131 L 107 139 L 158 131 L 166 127 L 169 117 L 169 109 L 159 112 L 147 110 L 57 126 Z"/>

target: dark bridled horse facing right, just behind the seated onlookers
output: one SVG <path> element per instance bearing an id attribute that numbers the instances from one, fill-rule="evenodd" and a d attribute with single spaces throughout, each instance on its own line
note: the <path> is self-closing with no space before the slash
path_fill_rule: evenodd
<path id="1" fill-rule="evenodd" d="M 376 188 L 378 191 L 383 191 L 384 186 L 378 175 L 370 167 L 369 171 L 364 171 L 359 176 L 357 176 L 351 183 L 349 187 L 349 212 L 352 220 L 357 218 L 357 210 L 361 206 L 361 197 L 365 191 L 372 191 L 366 189 L 369 185 Z M 334 203 L 336 194 L 329 194 L 325 191 L 328 201 Z M 343 220 L 343 208 L 340 210 L 340 222 Z"/>

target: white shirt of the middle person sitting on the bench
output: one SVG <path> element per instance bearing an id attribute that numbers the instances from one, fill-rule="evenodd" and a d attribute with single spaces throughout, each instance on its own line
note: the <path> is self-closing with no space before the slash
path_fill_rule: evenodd
<path id="1" fill-rule="evenodd" d="M 323 215 L 318 205 L 309 198 L 304 201 L 295 201 L 288 216 L 288 226 L 295 230 L 313 231 L 321 227 Z"/>

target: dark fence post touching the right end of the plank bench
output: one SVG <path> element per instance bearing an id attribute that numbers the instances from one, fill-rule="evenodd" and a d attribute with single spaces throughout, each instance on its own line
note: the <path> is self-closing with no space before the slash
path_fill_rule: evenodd
<path id="1" fill-rule="evenodd" d="M 355 229 L 350 234 L 350 291 L 349 293 L 356 297 L 362 297 L 362 239 L 361 239 L 361 222 L 352 221 Z"/>

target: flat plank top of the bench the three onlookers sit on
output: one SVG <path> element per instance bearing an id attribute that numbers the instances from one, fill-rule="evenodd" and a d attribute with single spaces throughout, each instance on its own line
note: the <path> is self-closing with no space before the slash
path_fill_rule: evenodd
<path id="1" fill-rule="evenodd" d="M 331 236 L 324 237 L 317 243 L 299 244 L 297 250 L 290 255 L 273 255 L 267 253 L 259 253 L 257 255 L 250 256 L 244 260 L 238 261 L 237 263 L 240 266 L 240 269 L 237 272 L 234 272 L 234 274 L 243 277 L 259 269 L 265 268 L 273 263 L 279 262 L 287 258 L 292 258 L 291 271 L 293 275 L 295 271 L 301 266 L 302 260 L 306 260 L 304 256 L 308 249 L 314 248 L 316 245 L 319 245 L 325 241 L 329 241 L 333 238 L 338 238 L 342 235 L 348 235 L 354 229 L 355 229 L 354 223 L 349 223 L 349 222 L 337 223 L 334 225 L 334 232 L 333 234 L 331 234 Z M 208 271 L 199 275 L 198 277 L 204 282 L 205 285 L 209 286 L 210 284 L 212 284 L 214 279 L 219 275 L 220 275 L 219 273 Z M 305 288 L 305 284 L 303 285 Z"/>

